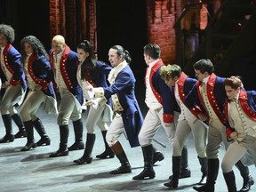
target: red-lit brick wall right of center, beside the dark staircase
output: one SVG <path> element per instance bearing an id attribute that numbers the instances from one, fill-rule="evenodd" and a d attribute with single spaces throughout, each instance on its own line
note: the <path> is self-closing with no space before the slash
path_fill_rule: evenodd
<path id="1" fill-rule="evenodd" d="M 193 1 L 191 1 L 193 3 Z M 195 1 L 196 3 L 198 1 Z M 210 1 L 209 1 L 210 2 Z M 214 4 L 218 9 L 220 0 Z M 213 1 L 212 1 L 213 3 Z M 176 61 L 175 21 L 183 12 L 188 0 L 148 0 L 148 39 L 149 43 L 159 44 L 164 63 Z M 204 29 L 207 26 L 207 10 L 200 4 L 193 6 L 181 22 L 182 31 Z"/>

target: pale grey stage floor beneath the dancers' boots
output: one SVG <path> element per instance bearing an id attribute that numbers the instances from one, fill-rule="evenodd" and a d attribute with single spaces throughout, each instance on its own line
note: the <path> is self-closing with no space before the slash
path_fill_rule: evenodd
<path id="1" fill-rule="evenodd" d="M 26 191 L 26 192 L 89 192 L 89 191 L 165 191 L 164 187 L 172 170 L 172 146 L 166 139 L 163 128 L 156 134 L 156 139 L 166 144 L 166 148 L 157 143 L 155 147 L 160 149 L 165 156 L 164 161 L 157 162 L 154 169 L 154 180 L 132 180 L 132 177 L 141 172 L 143 158 L 140 148 L 130 148 L 127 140 L 121 137 L 124 150 L 132 164 L 132 173 L 110 175 L 108 172 L 119 166 L 117 158 L 99 160 L 94 158 L 92 164 L 76 165 L 73 160 L 82 156 L 83 150 L 72 151 L 69 156 L 50 158 L 48 155 L 57 150 L 59 146 L 59 129 L 56 124 L 56 116 L 45 115 L 39 111 L 39 117 L 44 122 L 45 129 L 52 139 L 48 147 L 31 149 L 28 152 L 20 152 L 26 144 L 26 139 L 17 139 L 12 143 L 0 144 L 0 191 Z M 86 113 L 83 114 L 84 122 Z M 17 132 L 17 127 L 13 131 Z M 97 129 L 97 140 L 93 149 L 93 156 L 101 153 L 104 149 L 100 130 Z M 84 131 L 84 138 L 86 131 Z M 0 120 L 0 136 L 4 136 L 4 125 Z M 39 139 L 35 132 L 36 140 Z M 74 141 L 73 127 L 70 126 L 69 145 Z M 220 150 L 220 158 L 223 156 L 223 148 Z M 180 180 L 179 188 L 172 191 L 195 191 L 192 187 L 201 178 L 200 166 L 196 157 L 194 142 L 188 139 L 189 166 L 192 177 Z M 252 176 L 256 179 L 255 167 L 250 166 Z M 236 168 L 237 188 L 242 187 L 242 179 Z M 223 176 L 219 173 L 216 184 L 216 192 L 228 191 Z M 256 185 L 251 191 L 256 191 Z"/>

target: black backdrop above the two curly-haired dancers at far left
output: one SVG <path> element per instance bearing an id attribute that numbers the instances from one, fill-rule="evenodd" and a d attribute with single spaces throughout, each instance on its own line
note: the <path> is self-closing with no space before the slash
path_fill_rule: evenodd
<path id="1" fill-rule="evenodd" d="M 36 36 L 50 49 L 50 6 L 45 0 L 0 0 L 0 23 L 15 30 L 13 46 L 20 50 L 24 36 Z"/>

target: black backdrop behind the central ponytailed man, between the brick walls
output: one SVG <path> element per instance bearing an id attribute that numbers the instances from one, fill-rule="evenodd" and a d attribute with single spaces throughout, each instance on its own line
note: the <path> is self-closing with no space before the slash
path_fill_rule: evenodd
<path id="1" fill-rule="evenodd" d="M 144 75 L 147 65 L 143 47 L 148 43 L 147 1 L 97 0 L 96 3 L 99 60 L 108 60 L 108 50 L 116 44 L 130 52 L 130 66 L 137 80 L 136 96 L 140 108 L 146 108 Z"/>

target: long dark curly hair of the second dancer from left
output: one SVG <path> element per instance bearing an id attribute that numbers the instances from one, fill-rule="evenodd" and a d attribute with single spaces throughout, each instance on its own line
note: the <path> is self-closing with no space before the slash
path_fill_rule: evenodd
<path id="1" fill-rule="evenodd" d="M 40 40 L 36 38 L 36 36 L 25 36 L 20 42 L 20 53 L 22 62 L 24 62 L 27 57 L 27 54 L 25 52 L 25 43 L 31 45 L 33 52 L 36 54 L 36 58 L 43 55 L 47 60 L 49 60 L 49 55 L 44 48 L 44 44 L 42 44 Z"/>

